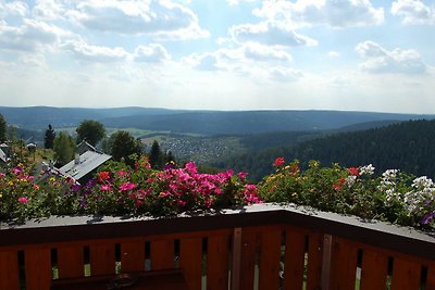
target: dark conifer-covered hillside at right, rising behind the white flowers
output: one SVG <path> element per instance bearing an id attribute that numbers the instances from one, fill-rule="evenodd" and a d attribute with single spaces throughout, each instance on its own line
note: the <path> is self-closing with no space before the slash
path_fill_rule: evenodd
<path id="1" fill-rule="evenodd" d="M 290 147 L 248 152 L 215 164 L 217 167 L 248 172 L 253 180 L 270 174 L 275 157 L 298 159 L 302 164 L 319 160 L 330 166 L 373 164 L 377 173 L 398 168 L 415 175 L 435 177 L 435 121 L 409 121 L 369 130 L 340 133 Z"/>

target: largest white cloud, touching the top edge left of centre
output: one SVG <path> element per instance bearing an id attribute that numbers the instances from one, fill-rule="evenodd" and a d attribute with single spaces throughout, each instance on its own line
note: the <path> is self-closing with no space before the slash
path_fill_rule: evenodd
<path id="1" fill-rule="evenodd" d="M 79 2 L 69 15 L 86 28 L 104 33 L 152 35 L 161 39 L 209 36 L 191 10 L 169 0 L 88 0 Z"/>

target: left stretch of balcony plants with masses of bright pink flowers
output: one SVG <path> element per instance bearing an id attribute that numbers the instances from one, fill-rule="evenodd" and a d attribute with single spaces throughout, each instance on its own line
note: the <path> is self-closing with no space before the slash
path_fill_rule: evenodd
<path id="1" fill-rule="evenodd" d="M 198 173 L 195 163 L 164 171 L 146 157 L 135 167 L 112 162 L 86 185 L 49 171 L 34 177 L 22 165 L 0 175 L 1 220 L 64 214 L 174 215 L 259 202 L 246 175 Z"/>

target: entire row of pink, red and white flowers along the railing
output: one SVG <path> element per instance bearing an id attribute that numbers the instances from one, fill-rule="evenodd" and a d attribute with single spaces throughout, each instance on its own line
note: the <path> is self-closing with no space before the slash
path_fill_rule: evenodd
<path id="1" fill-rule="evenodd" d="M 321 211 L 430 228 L 435 224 L 435 185 L 397 169 L 374 175 L 374 167 L 320 166 L 301 171 L 297 161 L 275 161 L 275 173 L 258 186 L 232 171 L 198 173 L 167 164 L 151 169 L 140 159 L 134 168 L 111 163 L 86 185 L 49 172 L 34 177 L 23 166 L 0 174 L 0 219 L 25 220 L 49 215 L 153 215 L 207 211 L 259 202 L 309 205 Z"/>

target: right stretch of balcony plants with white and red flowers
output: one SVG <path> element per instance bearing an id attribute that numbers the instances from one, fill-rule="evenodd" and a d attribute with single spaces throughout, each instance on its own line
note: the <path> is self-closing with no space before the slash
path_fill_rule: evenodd
<path id="1" fill-rule="evenodd" d="M 306 171 L 299 162 L 276 159 L 275 173 L 259 185 L 265 202 L 291 202 L 322 211 L 376 218 L 408 226 L 435 225 L 435 185 L 398 169 L 374 175 L 372 164 L 361 167 L 322 167 L 311 161 Z"/>

